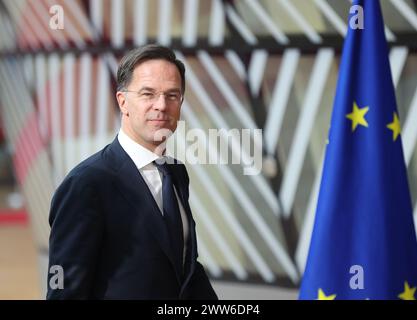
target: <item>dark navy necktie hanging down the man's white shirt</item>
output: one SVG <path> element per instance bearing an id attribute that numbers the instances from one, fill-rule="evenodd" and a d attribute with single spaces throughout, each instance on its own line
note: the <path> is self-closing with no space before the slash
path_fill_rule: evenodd
<path id="1" fill-rule="evenodd" d="M 162 173 L 162 205 L 164 210 L 164 220 L 168 227 L 168 232 L 171 238 L 172 249 L 174 251 L 175 263 L 179 270 L 183 270 L 183 249 L 184 249 L 184 235 L 182 228 L 181 213 L 178 207 L 177 197 L 174 192 L 174 183 L 169 165 L 166 163 L 158 164 L 154 162 L 155 166 Z"/>

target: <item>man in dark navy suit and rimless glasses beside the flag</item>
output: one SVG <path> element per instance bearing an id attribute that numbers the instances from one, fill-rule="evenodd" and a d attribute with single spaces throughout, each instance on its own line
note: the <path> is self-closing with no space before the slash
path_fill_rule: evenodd
<path id="1" fill-rule="evenodd" d="M 185 68 L 168 48 L 129 52 L 117 72 L 121 129 L 75 167 L 51 203 L 48 299 L 217 299 L 197 261 L 186 168 L 165 156 Z"/>

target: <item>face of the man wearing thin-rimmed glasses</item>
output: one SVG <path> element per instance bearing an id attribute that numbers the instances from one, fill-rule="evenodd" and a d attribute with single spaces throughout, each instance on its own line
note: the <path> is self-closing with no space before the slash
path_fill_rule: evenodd
<path id="1" fill-rule="evenodd" d="M 128 92 L 117 92 L 123 131 L 142 146 L 154 150 L 174 132 L 181 110 L 181 76 L 166 60 L 148 60 L 133 71 Z"/>

